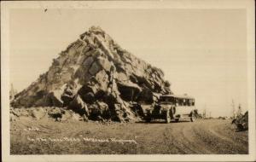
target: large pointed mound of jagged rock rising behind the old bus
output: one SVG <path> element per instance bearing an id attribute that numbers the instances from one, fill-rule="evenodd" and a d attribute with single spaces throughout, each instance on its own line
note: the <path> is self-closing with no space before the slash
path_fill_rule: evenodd
<path id="1" fill-rule="evenodd" d="M 84 120 L 131 121 L 139 118 L 132 102 L 151 104 L 159 94 L 172 94 L 164 72 L 92 26 L 15 95 L 11 107 L 65 107 Z"/>

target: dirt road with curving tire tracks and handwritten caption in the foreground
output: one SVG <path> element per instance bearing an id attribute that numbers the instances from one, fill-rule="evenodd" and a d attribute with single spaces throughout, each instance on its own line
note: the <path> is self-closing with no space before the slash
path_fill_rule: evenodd
<path id="1" fill-rule="evenodd" d="M 207 119 L 165 124 L 11 122 L 12 154 L 245 154 L 247 131 L 230 120 Z"/>

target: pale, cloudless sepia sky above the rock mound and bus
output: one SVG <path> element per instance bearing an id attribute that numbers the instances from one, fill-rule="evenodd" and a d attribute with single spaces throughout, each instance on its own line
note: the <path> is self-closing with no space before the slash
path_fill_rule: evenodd
<path id="1" fill-rule="evenodd" d="M 13 9 L 10 81 L 23 90 L 90 26 L 165 72 L 175 94 L 212 116 L 247 109 L 247 26 L 242 9 Z"/>

